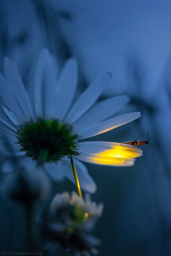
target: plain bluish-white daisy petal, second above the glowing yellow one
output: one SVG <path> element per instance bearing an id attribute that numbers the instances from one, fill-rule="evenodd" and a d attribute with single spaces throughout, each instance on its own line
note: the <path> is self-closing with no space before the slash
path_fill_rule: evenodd
<path id="1" fill-rule="evenodd" d="M 79 131 L 82 127 L 90 127 L 106 120 L 118 112 L 128 101 L 127 95 L 119 95 L 97 103 L 73 124 L 74 130 Z"/>

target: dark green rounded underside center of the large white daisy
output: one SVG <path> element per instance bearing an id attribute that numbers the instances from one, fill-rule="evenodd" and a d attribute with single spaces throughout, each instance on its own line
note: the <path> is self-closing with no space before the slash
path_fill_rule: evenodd
<path id="1" fill-rule="evenodd" d="M 27 122 L 17 132 L 21 150 L 33 160 L 38 159 L 42 149 L 48 152 L 46 162 L 57 162 L 63 156 L 76 155 L 77 136 L 71 133 L 71 127 L 58 120 Z"/>

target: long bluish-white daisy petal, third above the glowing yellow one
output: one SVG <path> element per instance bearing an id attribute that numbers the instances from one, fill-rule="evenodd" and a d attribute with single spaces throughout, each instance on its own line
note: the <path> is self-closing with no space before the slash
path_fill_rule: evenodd
<path id="1" fill-rule="evenodd" d="M 80 95 L 71 110 L 66 116 L 65 122 L 74 123 L 95 103 L 102 94 L 104 88 L 108 85 L 112 75 L 106 73 L 95 79 L 87 89 Z"/>

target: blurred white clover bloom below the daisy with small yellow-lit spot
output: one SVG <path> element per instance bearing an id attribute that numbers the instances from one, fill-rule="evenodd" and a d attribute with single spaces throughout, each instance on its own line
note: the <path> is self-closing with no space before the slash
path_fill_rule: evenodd
<path id="1" fill-rule="evenodd" d="M 78 194 L 67 192 L 54 196 L 51 210 L 57 217 L 57 221 L 48 225 L 49 244 L 46 249 L 54 251 L 55 244 L 63 250 L 76 255 L 96 255 L 96 247 L 100 241 L 92 237 L 92 231 L 96 220 L 102 215 L 103 205 L 91 201 L 90 195 L 85 200 Z M 59 253 L 59 246 L 56 253 Z"/>

